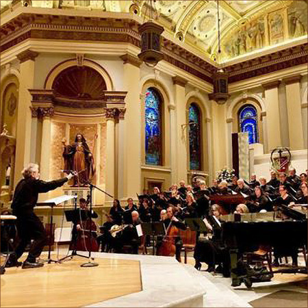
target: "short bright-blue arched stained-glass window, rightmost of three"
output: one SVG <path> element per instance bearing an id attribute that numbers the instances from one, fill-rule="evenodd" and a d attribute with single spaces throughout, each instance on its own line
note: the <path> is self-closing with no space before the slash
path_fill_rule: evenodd
<path id="1" fill-rule="evenodd" d="M 258 124 L 257 124 L 257 110 L 253 105 L 244 105 L 239 112 L 240 131 L 248 133 L 249 144 L 257 143 Z"/>

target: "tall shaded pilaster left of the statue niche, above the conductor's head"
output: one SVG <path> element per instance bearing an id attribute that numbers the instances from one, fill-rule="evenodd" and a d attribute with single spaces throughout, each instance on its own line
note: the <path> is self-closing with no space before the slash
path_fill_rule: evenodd
<path id="1" fill-rule="evenodd" d="M 17 55 L 20 60 L 21 78 L 19 79 L 19 95 L 17 109 L 16 130 L 16 164 L 14 171 L 14 185 L 21 179 L 21 171 L 30 162 L 31 153 L 31 95 L 28 89 L 34 87 L 34 64 L 38 53 L 23 51 Z M 36 142 L 36 140 L 34 140 Z"/>

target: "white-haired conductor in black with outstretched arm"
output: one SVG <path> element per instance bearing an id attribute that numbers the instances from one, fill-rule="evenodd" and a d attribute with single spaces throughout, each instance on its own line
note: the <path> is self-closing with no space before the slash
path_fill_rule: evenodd
<path id="1" fill-rule="evenodd" d="M 40 256 L 46 243 L 44 226 L 38 216 L 34 214 L 38 194 L 55 190 L 72 177 L 73 175 L 70 174 L 63 179 L 45 182 L 40 180 L 37 164 L 29 164 L 23 170 L 23 179 L 16 185 L 12 202 L 13 215 L 17 216 L 16 224 L 21 242 L 18 244 L 15 253 L 10 255 L 7 267 L 21 265 L 18 259 L 23 255 L 28 242 L 31 240 L 34 240 L 34 242 L 31 244 L 27 259 L 23 262 L 23 268 L 43 266 L 43 264 L 36 262 L 36 258 Z"/>

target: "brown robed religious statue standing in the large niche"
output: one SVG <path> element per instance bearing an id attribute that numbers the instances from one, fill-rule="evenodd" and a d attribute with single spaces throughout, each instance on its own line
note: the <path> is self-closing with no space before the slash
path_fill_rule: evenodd
<path id="1" fill-rule="evenodd" d="M 95 139 L 97 135 L 95 136 Z M 62 140 L 64 147 L 64 170 L 73 170 L 77 172 L 74 177 L 74 186 L 85 186 L 95 175 L 94 157 L 81 133 L 77 133 L 75 142 L 66 145 L 66 139 Z M 94 144 L 95 146 L 95 144 Z M 93 149 L 94 150 L 94 149 Z"/>

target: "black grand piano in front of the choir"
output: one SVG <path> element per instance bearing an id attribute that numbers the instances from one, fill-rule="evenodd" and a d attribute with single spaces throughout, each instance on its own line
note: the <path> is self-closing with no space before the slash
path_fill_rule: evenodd
<path id="1" fill-rule="evenodd" d="M 244 253 L 253 253 L 259 246 L 275 246 L 287 248 L 307 247 L 307 217 L 299 211 L 279 205 L 279 210 L 287 216 L 286 220 L 262 221 L 261 215 L 258 221 L 227 221 L 222 224 L 222 240 L 229 247 L 231 255 L 231 279 L 232 286 L 238 286 L 242 282 L 251 287 L 253 282 L 269 281 L 274 273 L 303 272 L 307 273 L 306 266 L 298 266 L 287 269 L 279 269 L 274 272 L 252 270 L 248 266 L 239 268 L 239 257 Z M 275 216 L 266 213 L 266 217 Z"/>

